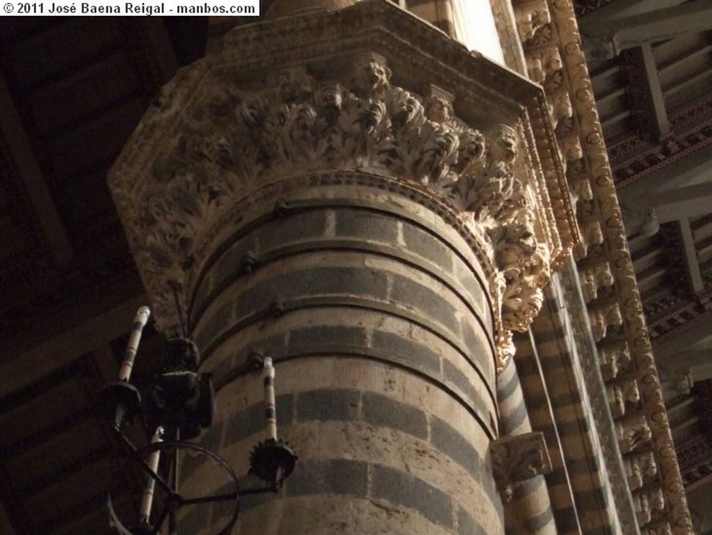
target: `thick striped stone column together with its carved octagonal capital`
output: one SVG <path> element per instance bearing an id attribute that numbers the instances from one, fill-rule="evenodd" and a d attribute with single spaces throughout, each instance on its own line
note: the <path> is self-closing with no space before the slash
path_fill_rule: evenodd
<path id="1" fill-rule="evenodd" d="M 159 328 L 201 348 L 203 440 L 239 473 L 263 438 L 246 363 L 271 356 L 300 457 L 236 533 L 503 533 L 496 370 L 570 247 L 547 120 L 387 2 L 236 28 L 164 88 L 110 175 Z"/>

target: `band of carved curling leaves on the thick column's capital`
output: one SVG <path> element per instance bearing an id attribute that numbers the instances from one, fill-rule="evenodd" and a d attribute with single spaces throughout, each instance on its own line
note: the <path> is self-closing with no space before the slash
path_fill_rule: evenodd
<path id="1" fill-rule="evenodd" d="M 152 165 L 160 194 L 133 208 L 136 254 L 157 289 L 159 316 L 174 316 L 174 294 L 182 296 L 197 248 L 235 199 L 296 173 L 361 170 L 427 188 L 461 213 L 491 266 L 499 356 L 511 355 L 507 333 L 528 327 L 550 276 L 550 251 L 535 234 L 536 201 L 515 172 L 520 133 L 512 125 L 473 128 L 447 98 L 390 78 L 383 58 L 367 54 L 337 80 L 292 68 L 258 83 L 211 84 Z"/>

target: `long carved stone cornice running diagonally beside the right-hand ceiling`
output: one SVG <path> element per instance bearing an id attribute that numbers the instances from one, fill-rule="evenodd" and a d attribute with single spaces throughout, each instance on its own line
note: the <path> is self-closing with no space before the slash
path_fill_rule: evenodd
<path id="1" fill-rule="evenodd" d="M 538 6 L 521 2 L 519 9 L 532 5 Z M 585 240 L 577 251 L 577 260 L 588 285 L 589 316 L 604 355 L 604 375 L 617 375 L 619 365 L 612 355 L 622 353 L 610 353 L 609 348 L 613 342 L 624 344 L 641 398 L 641 412 L 625 415 L 617 422 L 619 447 L 624 453 L 652 448 L 659 468 L 653 484 L 659 484 L 665 498 L 664 511 L 659 511 L 662 523 L 657 523 L 656 515 L 649 518 L 644 508 L 638 521 L 642 527 L 651 521 L 647 531 L 670 524 L 676 535 L 689 535 L 689 511 L 575 13 L 570 0 L 547 0 L 547 5 L 551 23 L 524 43 L 525 57 L 530 76 L 541 80 L 545 88 L 567 163 L 570 189 L 577 198 L 577 217 Z M 565 125 L 562 132 L 558 128 L 561 123 Z M 576 141 L 581 150 L 578 159 L 576 150 L 570 149 L 577 147 Z M 597 279 L 595 273 L 604 275 Z M 598 289 L 594 290 L 592 284 L 599 284 Z"/>

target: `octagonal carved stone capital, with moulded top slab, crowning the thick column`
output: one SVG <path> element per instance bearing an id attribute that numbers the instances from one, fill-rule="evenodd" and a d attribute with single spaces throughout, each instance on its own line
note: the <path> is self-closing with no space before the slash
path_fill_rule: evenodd
<path id="1" fill-rule="evenodd" d="M 324 170 L 392 177 L 456 214 L 513 353 L 577 241 L 537 86 L 389 2 L 237 28 L 148 110 L 110 187 L 164 331 L 256 189 Z"/>

